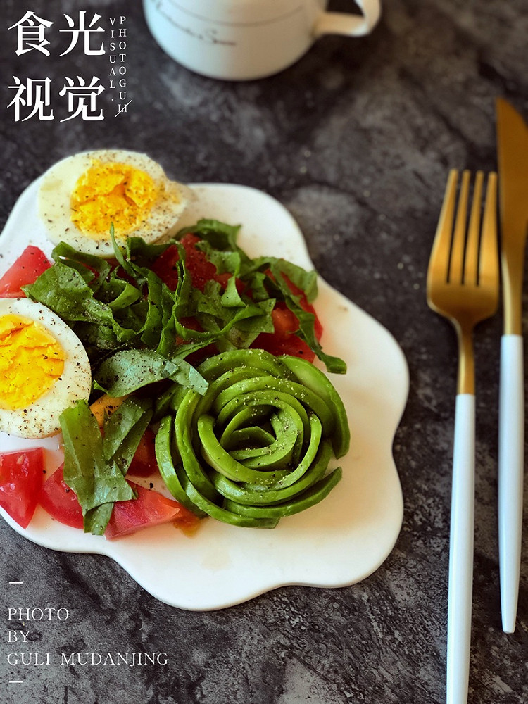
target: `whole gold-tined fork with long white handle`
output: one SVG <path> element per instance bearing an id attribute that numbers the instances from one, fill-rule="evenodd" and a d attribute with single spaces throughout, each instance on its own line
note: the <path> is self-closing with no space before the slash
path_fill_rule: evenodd
<path id="1" fill-rule="evenodd" d="M 490 173 L 482 229 L 484 174 L 477 172 L 469 223 L 470 172 L 449 173 L 427 271 L 427 302 L 451 320 L 458 337 L 447 620 L 447 704 L 466 704 L 470 666 L 474 536 L 473 329 L 498 306 L 497 177 Z M 453 227 L 454 222 L 454 227 Z"/>

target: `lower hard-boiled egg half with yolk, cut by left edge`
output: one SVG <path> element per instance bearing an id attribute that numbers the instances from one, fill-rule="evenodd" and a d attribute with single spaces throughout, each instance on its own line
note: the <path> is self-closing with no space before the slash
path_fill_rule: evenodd
<path id="1" fill-rule="evenodd" d="M 0 431 L 57 433 L 59 416 L 92 384 L 87 353 L 53 311 L 29 298 L 0 299 Z"/>

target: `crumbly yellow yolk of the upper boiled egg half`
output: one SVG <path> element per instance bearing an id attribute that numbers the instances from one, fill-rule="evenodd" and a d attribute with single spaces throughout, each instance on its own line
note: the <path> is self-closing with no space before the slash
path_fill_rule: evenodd
<path id="1" fill-rule="evenodd" d="M 126 237 L 146 218 L 158 198 L 158 187 L 149 174 L 128 164 L 96 161 L 75 184 L 71 219 L 92 237 Z"/>

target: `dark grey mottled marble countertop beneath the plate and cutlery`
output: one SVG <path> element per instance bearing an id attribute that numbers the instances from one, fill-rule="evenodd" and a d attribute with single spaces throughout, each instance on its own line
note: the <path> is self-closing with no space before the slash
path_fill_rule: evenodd
<path id="1" fill-rule="evenodd" d="M 524 2 L 385 0 L 370 37 L 325 37 L 283 73 L 239 83 L 171 61 L 153 42 L 139 1 L 34 0 L 27 8 L 58 20 L 80 6 L 103 18 L 126 15 L 130 106 L 103 122 L 60 122 L 59 114 L 15 122 L 7 107 L 13 76 L 59 80 L 101 63 L 74 53 L 15 56 L 7 27 L 26 6 L 4 0 L 1 225 L 49 165 L 99 147 L 146 151 L 184 182 L 246 184 L 275 196 L 301 226 L 320 275 L 389 329 L 408 360 L 410 395 L 394 440 L 403 527 L 381 567 L 355 586 L 288 586 L 226 610 L 188 612 L 156 601 L 107 558 L 47 551 L 2 521 L 5 701 L 443 702 L 455 337 L 427 308 L 425 276 L 448 169 L 496 168 L 497 96 L 528 115 Z M 501 629 L 499 603 L 500 334 L 499 313 L 476 341 L 471 704 L 528 700 L 528 510 L 514 634 Z M 23 586 L 8 584 L 17 579 Z M 73 615 L 31 624 L 26 650 L 165 651 L 168 665 L 12 667 L 12 605 Z M 14 676 L 23 684 L 8 684 Z"/>

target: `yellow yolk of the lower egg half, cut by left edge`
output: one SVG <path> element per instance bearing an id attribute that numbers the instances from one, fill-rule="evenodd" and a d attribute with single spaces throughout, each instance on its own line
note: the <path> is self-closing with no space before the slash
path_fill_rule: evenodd
<path id="1" fill-rule="evenodd" d="M 51 389 L 64 369 L 65 353 L 39 322 L 0 317 L 0 408 L 19 410 Z"/>

